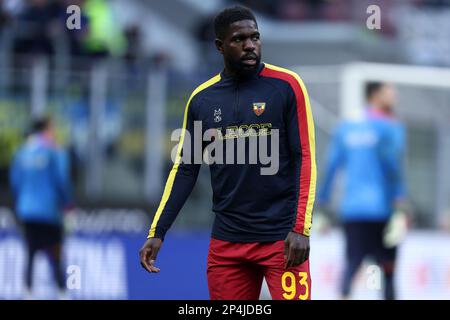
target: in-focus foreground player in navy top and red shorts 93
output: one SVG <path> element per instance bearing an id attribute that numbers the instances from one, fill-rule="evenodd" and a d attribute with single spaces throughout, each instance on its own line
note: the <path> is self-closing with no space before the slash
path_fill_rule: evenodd
<path id="1" fill-rule="evenodd" d="M 164 236 L 197 179 L 200 164 L 181 162 L 185 148 L 194 144 L 184 140 L 194 121 L 224 140 L 249 132 L 267 137 L 278 130 L 275 174 L 262 175 L 261 163 L 210 165 L 216 214 L 207 261 L 210 298 L 258 299 L 265 277 L 273 299 L 310 299 L 316 164 L 305 85 L 296 73 L 261 62 L 258 24 L 247 8 L 223 10 L 214 29 L 224 69 L 187 102 L 177 158 L 140 250 L 141 264 L 149 272 L 160 271 L 155 260 Z"/>

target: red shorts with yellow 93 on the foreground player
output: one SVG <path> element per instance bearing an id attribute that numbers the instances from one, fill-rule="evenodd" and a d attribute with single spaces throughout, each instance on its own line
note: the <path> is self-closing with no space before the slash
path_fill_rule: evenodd
<path id="1" fill-rule="evenodd" d="M 309 300 L 309 260 L 285 269 L 284 241 L 233 243 L 211 239 L 208 287 L 211 300 L 258 300 L 263 278 L 272 299 Z"/>

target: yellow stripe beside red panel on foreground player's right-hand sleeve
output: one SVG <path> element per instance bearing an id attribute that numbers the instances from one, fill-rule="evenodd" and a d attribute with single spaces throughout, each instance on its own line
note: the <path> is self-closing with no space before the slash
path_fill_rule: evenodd
<path id="1" fill-rule="evenodd" d="M 316 167 L 316 143 L 315 143 L 315 133 L 314 133 L 314 120 L 312 116 L 311 111 L 311 104 L 309 101 L 309 95 L 308 91 L 306 90 L 306 86 L 303 83 L 303 80 L 300 78 L 300 76 L 288 69 L 280 68 L 268 63 L 265 63 L 265 65 L 269 69 L 273 69 L 280 72 L 285 72 L 292 77 L 294 77 L 297 82 L 299 83 L 304 99 L 305 99 L 305 106 L 306 106 L 306 120 L 308 124 L 308 140 L 309 140 L 309 148 L 311 153 L 311 177 L 310 177 L 310 183 L 309 183 L 309 193 L 308 193 L 308 201 L 306 205 L 306 212 L 305 212 L 305 222 L 304 222 L 304 228 L 303 228 L 303 234 L 306 236 L 310 235 L 311 225 L 312 225 L 312 212 L 314 208 L 314 201 L 316 196 L 316 180 L 317 180 L 317 167 Z"/>

